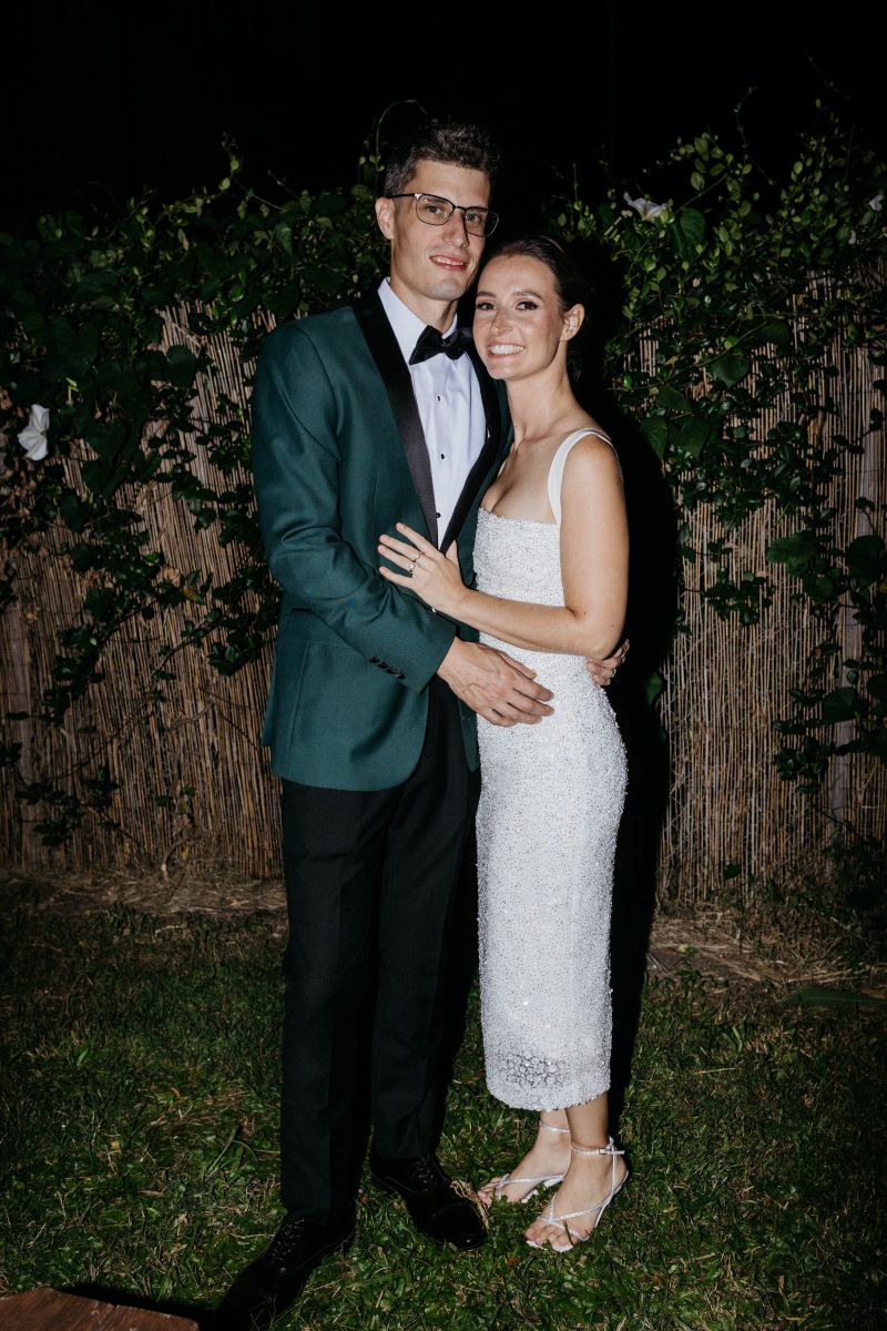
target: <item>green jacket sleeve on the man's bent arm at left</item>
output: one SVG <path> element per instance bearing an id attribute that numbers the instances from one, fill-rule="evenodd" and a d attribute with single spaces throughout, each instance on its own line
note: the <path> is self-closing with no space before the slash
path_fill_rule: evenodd
<path id="1" fill-rule="evenodd" d="M 271 333 L 251 403 L 253 474 L 269 568 L 297 606 L 419 692 L 447 655 L 455 626 L 387 583 L 343 538 L 338 415 L 310 337 L 298 323 Z"/>

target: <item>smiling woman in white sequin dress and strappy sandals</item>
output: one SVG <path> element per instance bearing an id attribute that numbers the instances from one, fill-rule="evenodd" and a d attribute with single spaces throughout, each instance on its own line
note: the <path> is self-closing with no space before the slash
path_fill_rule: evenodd
<path id="1" fill-rule="evenodd" d="M 507 245 L 479 281 L 475 343 L 505 381 L 515 442 L 481 502 L 475 567 L 463 586 L 404 524 L 380 538 L 383 578 L 480 630 L 481 642 L 537 671 L 555 715 L 539 725 L 480 725 L 477 812 L 480 992 L 489 1090 L 540 1110 L 516 1169 L 479 1194 L 528 1202 L 560 1185 L 525 1231 L 569 1251 L 589 1238 L 628 1167 L 608 1135 L 609 918 L 625 755 L 585 658 L 620 642 L 628 524 L 618 462 L 578 405 L 568 361 L 582 329 L 580 287 L 545 237 Z M 540 659 L 540 652 L 545 654 Z"/>

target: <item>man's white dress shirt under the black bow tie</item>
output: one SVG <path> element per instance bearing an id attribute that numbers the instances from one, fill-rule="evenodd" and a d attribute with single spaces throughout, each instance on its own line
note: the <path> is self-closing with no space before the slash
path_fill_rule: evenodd
<path id="1" fill-rule="evenodd" d="M 387 277 L 379 286 L 379 298 L 412 378 L 431 462 L 438 540 L 443 540 L 468 473 L 484 446 L 487 421 L 480 385 L 468 355 L 451 361 L 448 355 L 440 354 L 420 365 L 410 365 L 410 357 L 426 325 L 395 295 Z M 455 327 L 453 318 L 444 337 Z"/>

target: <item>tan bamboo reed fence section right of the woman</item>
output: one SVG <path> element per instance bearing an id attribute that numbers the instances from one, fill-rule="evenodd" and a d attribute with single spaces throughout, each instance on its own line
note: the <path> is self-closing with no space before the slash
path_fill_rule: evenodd
<path id="1" fill-rule="evenodd" d="M 815 278 L 811 285 L 822 289 L 826 284 Z M 775 347 L 767 350 L 778 358 Z M 656 343 L 646 342 L 642 363 L 652 369 L 654 355 Z M 871 530 L 856 499 L 887 503 L 886 435 L 883 429 L 868 429 L 875 406 L 868 357 L 835 338 L 822 365 L 818 401 L 836 401 L 839 425 L 832 419 L 826 426 L 824 414 L 813 418 L 811 442 L 822 445 L 826 429 L 839 429 L 848 439 L 864 438 L 863 451 L 846 454 L 844 474 L 823 495 L 823 506 L 835 511 L 835 540 L 843 547 Z M 775 402 L 762 413 L 761 438 L 783 407 Z M 662 667 L 661 715 L 670 741 L 672 780 L 658 855 L 660 892 L 685 902 L 717 896 L 725 869 L 735 866 L 742 904 L 749 905 L 769 880 L 785 888 L 798 873 L 815 870 L 840 828 L 884 835 L 887 765 L 860 753 L 838 755 L 817 796 L 801 795 L 779 776 L 774 723 L 790 715 L 790 691 L 805 687 L 823 626 L 810 614 L 810 603 L 795 595 L 797 579 L 767 563 L 767 546 L 786 535 L 774 502 L 731 531 L 705 504 L 689 515 L 688 526 L 688 544 L 696 551 L 696 558 L 684 560 L 688 634 L 674 642 Z M 753 570 L 766 572 L 774 584 L 773 602 L 755 626 L 719 619 L 699 594 L 714 582 L 719 566 L 706 551 L 722 540 L 731 551 L 730 578 Z M 840 651 L 831 658 L 830 688 L 847 683 L 840 663 L 859 656 L 860 631 L 850 606 L 840 610 L 836 640 Z M 838 743 L 850 739 L 850 723 L 839 727 Z"/>

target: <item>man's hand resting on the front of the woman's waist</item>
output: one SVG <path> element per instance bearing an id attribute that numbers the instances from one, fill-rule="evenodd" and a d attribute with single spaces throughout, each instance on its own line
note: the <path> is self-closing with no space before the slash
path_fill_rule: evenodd
<path id="1" fill-rule="evenodd" d="M 455 638 L 438 675 L 456 697 L 493 725 L 533 725 L 553 711 L 547 705 L 551 689 L 536 684 L 533 671 L 495 647 Z"/>

